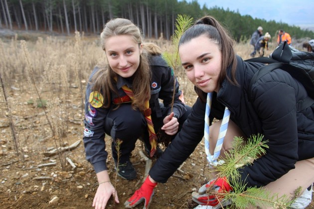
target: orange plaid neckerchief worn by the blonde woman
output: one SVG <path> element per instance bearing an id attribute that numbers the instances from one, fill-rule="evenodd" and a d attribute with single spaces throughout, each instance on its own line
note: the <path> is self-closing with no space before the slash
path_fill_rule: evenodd
<path id="1" fill-rule="evenodd" d="M 126 93 L 126 95 L 128 95 L 131 98 L 131 100 L 133 100 L 134 94 L 132 90 L 129 87 L 127 87 L 127 85 L 123 85 L 122 89 Z M 144 110 L 144 116 L 147 122 L 147 128 L 148 128 L 148 132 L 150 136 L 150 144 L 152 147 L 151 152 L 150 152 L 150 157 L 153 157 L 157 149 L 157 135 L 154 130 L 154 124 L 153 124 L 152 116 L 151 116 L 152 110 L 150 108 L 149 100 L 145 101 L 145 108 L 146 109 Z"/>

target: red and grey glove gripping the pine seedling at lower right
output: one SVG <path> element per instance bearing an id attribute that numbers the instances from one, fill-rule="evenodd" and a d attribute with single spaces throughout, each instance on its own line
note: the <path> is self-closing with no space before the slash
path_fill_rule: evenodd
<path id="1" fill-rule="evenodd" d="M 220 194 L 208 196 L 206 192 L 209 187 L 212 187 L 213 190 Z M 199 188 L 198 193 L 193 192 L 192 200 L 195 203 L 198 203 L 199 205 L 216 206 L 223 200 L 224 198 L 223 194 L 227 192 L 232 192 L 232 188 L 227 182 L 227 178 L 226 177 L 218 178 L 211 180 L 207 184 L 203 185 L 201 188 Z"/>

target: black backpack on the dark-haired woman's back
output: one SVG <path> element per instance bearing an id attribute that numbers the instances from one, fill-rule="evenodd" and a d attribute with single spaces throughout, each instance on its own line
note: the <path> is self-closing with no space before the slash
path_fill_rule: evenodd
<path id="1" fill-rule="evenodd" d="M 314 53 L 298 51 L 290 47 L 287 41 L 281 43 L 269 57 L 256 57 L 245 60 L 246 62 L 259 62 L 268 64 L 261 67 L 252 77 L 248 92 L 253 84 L 267 73 L 282 69 L 300 81 L 310 96 L 303 101 L 303 107 L 314 104 Z"/>

